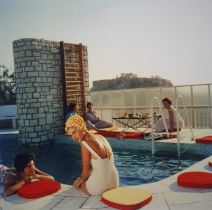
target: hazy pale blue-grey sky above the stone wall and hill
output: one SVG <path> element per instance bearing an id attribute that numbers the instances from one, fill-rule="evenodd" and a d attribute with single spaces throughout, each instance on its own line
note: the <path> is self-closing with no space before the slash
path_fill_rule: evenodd
<path id="1" fill-rule="evenodd" d="M 0 64 L 12 42 L 88 47 L 89 77 L 132 72 L 174 85 L 212 83 L 212 0 L 0 0 Z"/>

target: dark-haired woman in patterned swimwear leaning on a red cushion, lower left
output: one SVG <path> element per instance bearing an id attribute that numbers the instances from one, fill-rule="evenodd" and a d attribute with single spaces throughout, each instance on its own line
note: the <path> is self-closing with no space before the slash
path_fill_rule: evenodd
<path id="1" fill-rule="evenodd" d="M 33 179 L 54 180 L 49 174 L 37 169 L 34 161 L 35 156 L 33 154 L 21 153 L 15 157 L 15 168 L 0 165 L 0 181 L 4 185 L 4 196 L 12 195 L 24 184 L 31 182 Z"/>

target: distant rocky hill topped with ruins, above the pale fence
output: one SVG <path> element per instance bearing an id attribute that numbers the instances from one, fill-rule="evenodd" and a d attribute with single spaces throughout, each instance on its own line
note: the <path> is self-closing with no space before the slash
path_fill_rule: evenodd
<path id="1" fill-rule="evenodd" d="M 173 84 L 170 80 L 163 79 L 159 76 L 145 78 L 137 77 L 137 75 L 133 73 L 123 73 L 120 77 L 115 79 L 93 81 L 93 87 L 91 88 L 91 91 L 172 86 Z"/>

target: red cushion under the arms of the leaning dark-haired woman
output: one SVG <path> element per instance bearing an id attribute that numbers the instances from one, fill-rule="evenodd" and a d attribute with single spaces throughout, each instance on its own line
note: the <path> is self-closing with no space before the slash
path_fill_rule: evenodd
<path id="1" fill-rule="evenodd" d="M 40 180 L 25 184 L 17 190 L 18 195 L 23 198 L 40 198 L 54 192 L 61 188 L 61 184 L 53 180 Z"/>

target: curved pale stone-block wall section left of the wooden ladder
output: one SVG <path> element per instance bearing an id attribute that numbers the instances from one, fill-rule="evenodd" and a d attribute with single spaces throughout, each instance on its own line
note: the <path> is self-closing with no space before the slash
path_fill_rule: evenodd
<path id="1" fill-rule="evenodd" d="M 63 132 L 63 90 L 59 42 L 13 42 L 19 140 L 44 143 Z"/>

